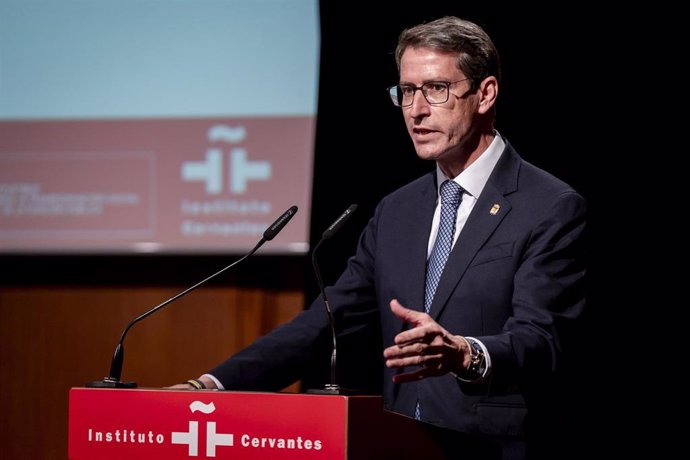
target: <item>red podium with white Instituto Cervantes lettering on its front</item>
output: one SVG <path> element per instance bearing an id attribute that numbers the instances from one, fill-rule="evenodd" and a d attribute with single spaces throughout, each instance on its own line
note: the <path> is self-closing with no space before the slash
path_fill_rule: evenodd
<path id="1" fill-rule="evenodd" d="M 444 432 L 384 410 L 378 396 L 73 388 L 68 457 L 446 459 Z M 497 458 L 453 433 L 468 455 L 452 458 Z"/>

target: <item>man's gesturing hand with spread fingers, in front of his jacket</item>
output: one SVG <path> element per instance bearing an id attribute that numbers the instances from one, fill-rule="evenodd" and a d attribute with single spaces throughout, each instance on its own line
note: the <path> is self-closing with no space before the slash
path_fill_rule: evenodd
<path id="1" fill-rule="evenodd" d="M 419 366 L 395 375 L 395 383 L 457 373 L 469 366 L 470 349 L 464 337 L 450 334 L 426 313 L 405 308 L 396 299 L 391 300 L 390 307 L 412 328 L 396 335 L 395 345 L 383 350 L 386 366 Z"/>

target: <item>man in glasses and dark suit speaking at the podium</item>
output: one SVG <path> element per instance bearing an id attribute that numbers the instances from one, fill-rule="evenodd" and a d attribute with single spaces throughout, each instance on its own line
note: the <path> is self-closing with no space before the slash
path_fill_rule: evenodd
<path id="1" fill-rule="evenodd" d="M 436 169 L 378 204 L 327 288 L 338 335 L 383 348 L 388 409 L 527 458 L 585 303 L 586 205 L 495 130 L 499 59 L 480 27 L 446 17 L 407 29 L 396 61 L 391 100 Z M 302 378 L 330 334 L 325 308 L 317 299 L 199 382 L 278 390 Z"/>

